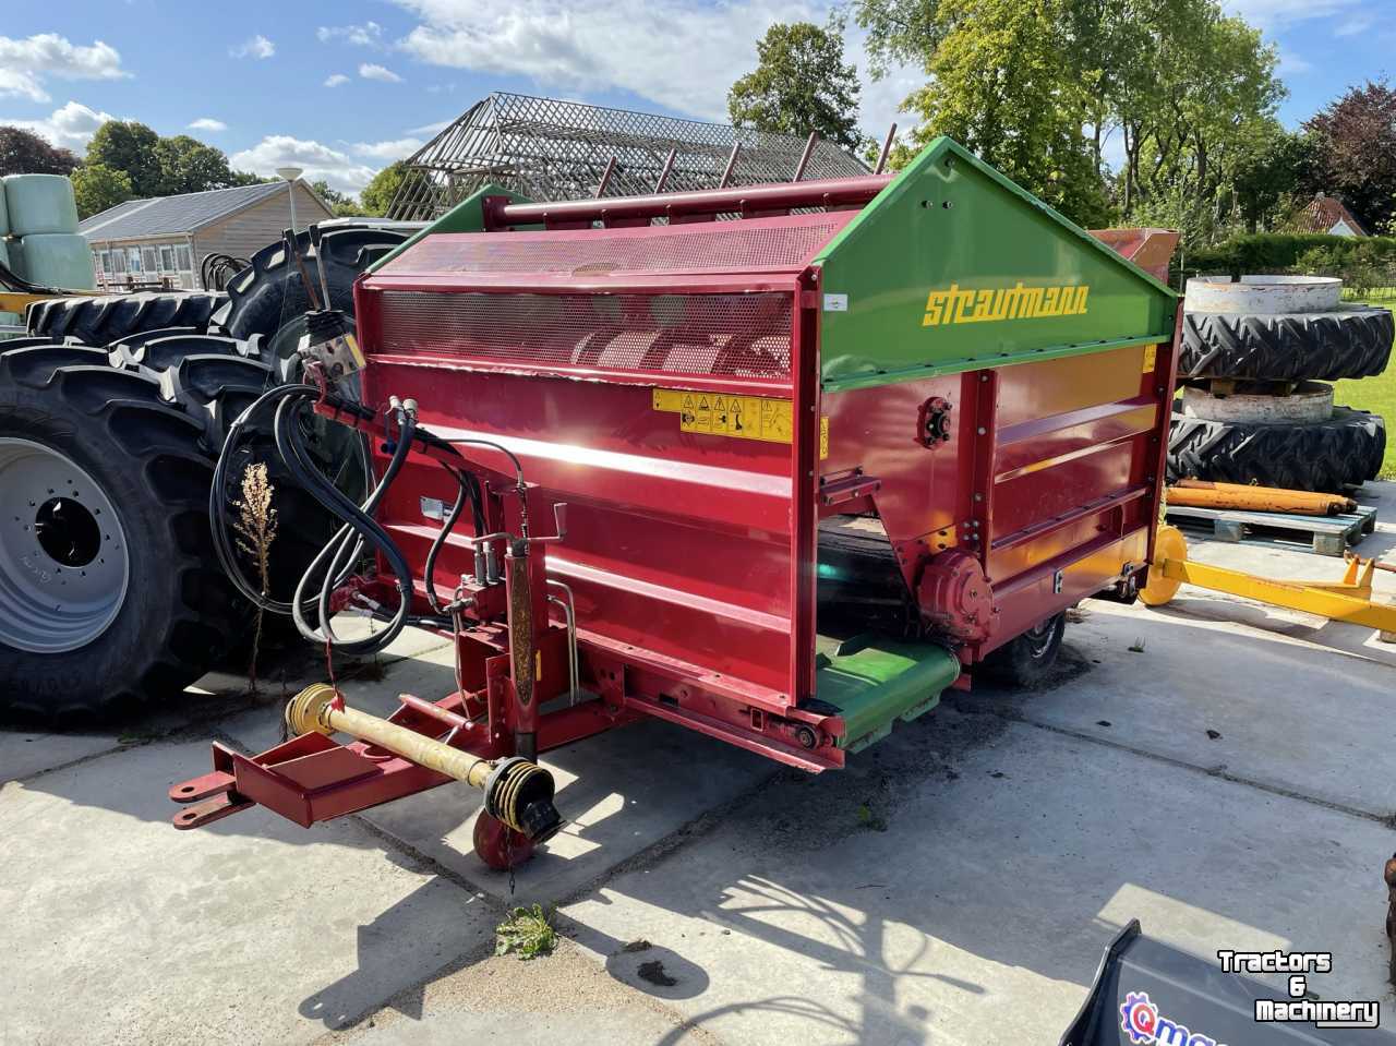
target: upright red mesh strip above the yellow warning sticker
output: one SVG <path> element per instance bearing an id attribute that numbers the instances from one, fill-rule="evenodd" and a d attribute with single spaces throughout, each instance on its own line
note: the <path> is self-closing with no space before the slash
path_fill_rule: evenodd
<path id="1" fill-rule="evenodd" d="M 377 352 L 539 367 L 789 377 L 792 296 L 385 290 Z"/>

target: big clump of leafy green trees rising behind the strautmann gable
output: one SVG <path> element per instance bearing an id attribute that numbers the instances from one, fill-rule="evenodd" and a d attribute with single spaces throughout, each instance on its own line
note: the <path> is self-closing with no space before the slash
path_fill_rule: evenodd
<path id="1" fill-rule="evenodd" d="M 928 73 L 906 102 L 923 116 L 913 142 L 965 138 L 1079 221 L 1104 216 L 1103 204 L 1128 222 L 1177 214 L 1206 240 L 1242 218 L 1273 221 L 1275 193 L 1297 177 L 1276 152 L 1276 52 L 1220 0 L 854 0 L 853 11 L 874 74 L 907 61 Z"/>

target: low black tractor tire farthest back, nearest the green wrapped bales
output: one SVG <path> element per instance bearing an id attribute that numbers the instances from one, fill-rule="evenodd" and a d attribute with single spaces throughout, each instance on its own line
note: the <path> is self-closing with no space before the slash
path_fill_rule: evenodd
<path id="1" fill-rule="evenodd" d="M 205 331 L 214 310 L 226 300 L 228 295 L 201 290 L 53 297 L 29 306 L 25 324 L 29 334 L 52 341 L 77 338 L 84 345 L 110 345 L 162 327 Z"/>

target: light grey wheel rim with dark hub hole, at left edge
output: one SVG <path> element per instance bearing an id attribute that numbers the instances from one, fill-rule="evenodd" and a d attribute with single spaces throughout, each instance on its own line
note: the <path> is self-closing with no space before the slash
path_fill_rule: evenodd
<path id="1" fill-rule="evenodd" d="M 32 654 L 85 647 L 126 599 L 126 531 L 71 458 L 0 437 L 0 644 Z"/>

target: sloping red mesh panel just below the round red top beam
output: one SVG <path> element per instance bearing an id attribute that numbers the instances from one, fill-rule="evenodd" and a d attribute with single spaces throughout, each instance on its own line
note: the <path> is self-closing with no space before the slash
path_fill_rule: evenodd
<path id="1" fill-rule="evenodd" d="M 853 218 L 761 218 L 720 228 L 652 229 L 641 235 L 588 232 L 585 237 L 539 233 L 427 236 L 383 267 L 384 275 L 443 272 L 751 272 L 803 268 Z"/>

